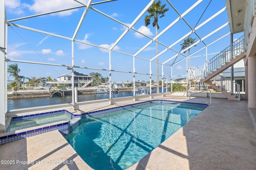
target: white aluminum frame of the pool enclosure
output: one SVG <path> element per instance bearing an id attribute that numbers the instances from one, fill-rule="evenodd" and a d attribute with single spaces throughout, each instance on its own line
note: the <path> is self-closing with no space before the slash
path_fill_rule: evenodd
<path id="1" fill-rule="evenodd" d="M 74 68 L 85 68 L 85 69 L 93 69 L 93 70 L 106 70 L 106 71 L 109 71 L 109 78 L 110 78 L 110 84 L 112 83 L 112 76 L 111 76 L 111 72 L 112 71 L 115 71 L 115 72 L 126 72 L 126 73 L 132 73 L 133 74 L 133 81 L 134 81 L 134 100 L 136 100 L 136 97 L 135 97 L 135 76 L 136 74 L 144 74 L 144 75 L 149 75 L 149 79 L 150 79 L 150 96 L 152 94 L 152 84 L 151 84 L 151 80 L 152 80 L 152 76 L 162 76 L 162 80 L 164 77 L 168 77 L 168 75 L 170 75 L 170 77 L 172 78 L 173 75 L 172 75 L 172 66 L 174 66 L 175 64 L 177 63 L 180 63 L 181 61 L 183 61 L 184 59 L 188 59 L 188 57 L 191 57 L 192 55 L 196 54 L 198 51 L 206 48 L 206 61 L 207 61 L 207 47 L 209 45 L 211 45 L 212 43 L 215 43 L 216 41 L 218 41 L 219 39 L 223 38 L 224 36 L 222 36 L 221 38 L 218 38 L 217 40 L 213 41 L 212 43 L 210 44 L 206 44 L 204 42 L 204 40 L 206 38 L 208 38 L 210 35 L 220 31 L 221 29 L 223 29 L 224 27 L 226 27 L 228 25 L 228 22 L 225 23 L 224 25 L 216 28 L 214 31 L 208 33 L 206 36 L 204 36 L 203 38 L 200 37 L 200 35 L 198 33 L 196 33 L 196 31 L 198 29 L 200 29 L 200 27 L 202 27 L 203 25 L 205 25 L 206 23 L 208 23 L 209 21 L 211 21 L 213 18 L 215 18 L 216 16 L 222 14 L 222 12 L 226 11 L 226 7 L 220 9 L 218 12 L 216 12 L 216 14 L 212 15 L 210 18 L 208 18 L 207 20 L 205 20 L 204 22 L 202 22 L 200 25 L 196 26 L 196 27 L 192 27 L 191 25 L 189 25 L 189 23 L 184 19 L 184 16 L 186 16 L 188 13 L 190 13 L 194 8 L 196 8 L 196 6 L 198 6 L 201 2 L 203 2 L 203 0 L 198 0 L 196 3 L 194 3 L 192 6 L 190 6 L 190 8 L 188 8 L 187 10 L 185 10 L 185 12 L 183 12 L 182 14 L 180 14 L 180 12 L 178 12 L 178 10 L 174 7 L 174 5 L 172 5 L 172 3 L 169 1 L 169 0 L 166 0 L 167 2 L 167 7 L 168 8 L 172 8 L 178 15 L 179 17 L 176 18 L 174 21 L 172 21 L 167 27 L 165 27 L 160 33 L 158 33 L 157 36 L 155 37 L 149 37 L 148 35 L 145 35 L 144 33 L 136 30 L 133 28 L 133 26 L 135 25 L 135 23 L 137 23 L 140 18 L 146 13 L 146 11 L 148 10 L 148 8 L 155 2 L 155 0 L 150 0 L 148 2 L 148 4 L 143 8 L 143 10 L 140 12 L 140 14 L 138 14 L 138 16 L 132 21 L 132 23 L 130 25 L 126 25 L 125 23 L 122 23 L 121 21 L 115 19 L 115 18 L 112 18 L 111 16 L 107 15 L 107 14 L 104 14 L 104 12 L 101 12 L 100 10 L 97 10 L 96 8 L 94 8 L 93 6 L 96 6 L 97 4 L 103 4 L 103 3 L 111 3 L 112 1 L 115 1 L 115 0 L 106 0 L 106 1 L 101 1 L 101 2 L 96 2 L 96 3 L 92 3 L 93 0 L 89 0 L 87 4 L 84 4 L 83 2 L 80 2 L 79 0 L 74 0 L 75 2 L 78 2 L 80 5 L 79 6 L 76 6 L 76 7 L 72 7 L 72 8 L 66 8 L 66 9 L 63 9 L 63 10 L 56 10 L 56 11 L 52 11 L 52 12 L 47 12 L 47 13 L 42 13 L 42 14 L 36 14 L 36 15 L 32 15 L 32 16 L 26 16 L 26 17 L 22 17 L 22 18 L 16 18 L 16 19 L 13 19 L 13 20 L 8 20 L 7 21 L 7 17 L 5 15 L 5 7 L 4 7 L 4 1 L 1 1 L 0 2 L 0 35 L 1 37 L 5 37 L 5 39 L 1 39 L 0 40 L 0 45 L 1 47 L 4 46 L 6 47 L 6 50 L 7 51 L 7 29 L 6 31 L 4 31 L 4 29 L 2 28 L 6 28 L 7 25 L 10 25 L 10 26 L 13 26 L 13 27 L 19 27 L 19 28 L 22 28 L 22 29 L 27 29 L 27 30 L 30 30 L 30 31 L 35 31 L 35 32 L 38 32 L 38 33 L 42 33 L 42 34 L 46 34 L 46 35 L 51 35 L 51 36 L 54 36 L 54 37 L 58 37 L 58 38 L 62 38 L 62 39 L 67 39 L 67 40 L 70 40 L 71 41 L 71 47 L 72 47 L 72 59 L 71 59 L 71 64 L 70 65 L 66 65 L 66 64 L 52 64 L 52 63 L 39 63 L 39 62 L 33 62 L 33 61 L 20 61 L 20 60 L 14 60 L 14 59 L 6 59 L 4 53 L 3 53 L 3 50 L 1 50 L 0 52 L 0 55 L 3 57 L 1 57 L 1 59 L 5 60 L 5 61 L 2 61 L 2 63 L 4 63 L 4 65 L 2 65 L 2 67 L 0 67 L 1 69 L 1 74 L 2 72 L 4 74 L 2 74 L 1 76 L 4 76 L 4 82 L 1 82 L 0 83 L 0 88 L 5 88 L 5 85 L 4 84 L 7 84 L 7 61 L 10 61 L 10 62 L 20 62 L 20 63 L 32 63 L 32 64 L 44 64 L 44 65 L 50 65 L 50 66 L 64 66 L 64 67 L 67 67 L 67 66 L 71 66 L 72 67 L 72 107 L 74 108 L 74 105 L 75 105 L 75 101 L 74 101 Z M 168 6 L 169 5 L 169 6 Z M 42 31 L 42 30 L 39 30 L 39 29 L 34 29 L 34 28 L 31 28 L 31 27 L 26 27 L 24 25 L 19 25 L 19 24 L 16 24 L 15 21 L 20 21 L 20 20 L 26 20 L 28 18 L 36 18 L 36 17 L 39 17 L 39 16 L 45 16 L 45 15 L 49 15 L 49 14 L 54 14 L 54 13 L 57 13 L 57 12 L 63 12 L 63 11 L 67 11 L 67 10 L 74 10 L 74 9 L 78 9 L 78 8 L 84 8 L 84 12 L 80 18 L 80 21 L 78 23 L 78 25 L 76 26 L 76 30 L 73 34 L 72 37 L 66 37 L 66 36 L 63 36 L 63 35 L 58 35 L 58 34 L 55 34 L 55 33 L 50 33 L 50 32 L 46 32 L 46 31 Z M 98 12 L 99 14 L 103 15 L 103 16 L 106 16 L 107 18 L 117 22 L 117 23 L 120 23 L 124 26 L 126 26 L 126 30 L 122 33 L 122 35 L 120 35 L 120 37 L 118 37 L 118 39 L 116 39 L 116 41 L 113 43 L 113 45 L 110 47 L 110 48 L 106 48 L 106 47 L 102 47 L 102 46 L 99 46 L 99 45 L 95 45 L 95 44 L 92 44 L 92 43 L 88 43 L 88 42 L 84 42 L 84 41 L 80 41 L 78 39 L 76 39 L 76 36 L 78 34 L 78 32 L 80 31 L 80 27 L 82 25 L 82 23 L 84 22 L 84 19 L 86 18 L 86 14 L 89 10 L 94 10 L 95 12 Z M 175 25 L 178 21 L 180 20 L 183 20 L 186 25 L 188 25 L 188 27 L 191 29 L 191 31 L 189 31 L 188 33 L 186 33 L 185 35 L 183 35 L 180 39 L 178 39 L 176 42 L 172 43 L 171 45 L 165 45 L 164 43 L 161 43 L 160 41 L 156 41 L 159 37 L 161 37 L 168 29 L 170 29 L 173 25 Z M 3 23 L 5 26 L 3 26 Z M 134 54 L 128 54 L 128 53 L 124 53 L 122 51 L 118 51 L 118 50 L 115 50 L 114 47 L 116 47 L 116 45 L 118 45 L 118 43 L 120 42 L 120 40 L 130 31 L 136 31 L 137 33 L 140 33 L 141 35 L 144 35 L 145 37 L 147 38 L 150 38 L 151 40 L 146 43 L 140 50 L 138 50 L 136 53 Z M 190 47 L 193 47 L 194 45 L 202 42 L 205 47 L 203 47 L 202 49 L 196 51 L 195 53 L 191 54 L 190 56 L 185 56 L 183 54 L 184 51 L 188 50 L 190 47 L 184 49 L 184 50 L 180 50 L 180 51 L 176 51 L 174 49 L 172 49 L 172 47 L 174 47 L 174 45 L 177 45 L 178 43 L 180 43 L 180 41 L 182 41 L 183 39 L 185 39 L 186 37 L 190 36 L 192 33 L 194 33 L 198 38 L 199 38 L 199 41 L 196 41 L 194 44 L 192 44 Z M 79 66 L 79 65 L 76 65 L 75 62 L 74 62 L 74 59 L 76 56 L 74 56 L 74 42 L 79 42 L 79 43 L 83 43 L 83 44 L 86 44 L 86 45 L 91 45 L 91 46 L 94 46 L 94 47 L 98 47 L 98 48 L 102 48 L 102 49 L 106 49 L 106 50 L 109 50 L 109 69 L 103 69 L 103 68 L 90 68 L 90 67 L 84 67 L 84 66 Z M 151 59 L 145 59 L 143 57 L 140 57 L 138 56 L 144 49 L 146 49 L 147 47 L 149 47 L 149 45 L 151 45 L 153 42 L 158 42 L 159 44 L 163 45 L 164 47 L 166 47 L 166 49 L 164 49 L 163 51 L 161 51 L 158 55 L 155 55 L 154 57 L 152 57 Z M 162 54 L 164 54 L 166 51 L 168 50 L 172 50 L 176 53 L 176 55 L 174 56 L 170 56 L 170 58 L 162 63 L 159 63 L 159 64 L 162 64 L 162 75 L 155 75 L 155 74 L 152 74 L 152 62 L 156 63 L 156 61 L 154 61 L 157 57 L 161 57 Z M 111 52 L 117 52 L 117 53 L 121 53 L 121 54 L 124 54 L 124 55 L 128 55 L 130 57 L 133 57 L 133 71 L 132 72 L 129 72 L 129 71 L 122 71 L 122 70 L 112 70 L 112 62 L 111 62 Z M 172 64 L 168 64 L 168 62 L 172 61 L 172 59 L 178 57 L 178 55 L 182 55 L 184 57 L 184 59 L 181 59 L 179 61 L 177 61 L 176 63 L 172 63 Z M 142 73 L 139 73 L 139 72 L 136 72 L 136 68 L 135 68 L 135 58 L 138 58 L 138 59 L 143 59 L 147 62 L 149 62 L 149 65 L 150 65 L 150 68 L 149 68 L 149 73 L 146 72 L 142 72 Z M 170 66 L 171 68 L 171 72 L 164 75 L 164 66 Z M 187 76 L 188 78 L 188 76 Z M 111 90 L 111 86 L 110 86 L 110 90 Z M 7 111 L 7 90 L 5 90 L 5 93 L 6 95 L 5 96 L 1 96 L 0 98 L 0 101 L 4 101 L 4 102 L 1 102 L 1 109 L 3 109 L 0 113 L 0 119 L 2 119 L 1 117 L 3 117 L 3 114 L 4 112 Z M 152 97 L 152 96 L 151 96 Z M 110 93 L 110 104 L 112 104 L 112 94 Z M 2 125 L 3 122 L 0 122 L 0 125 Z M 0 130 L 1 130 L 1 127 L 0 127 Z"/>

